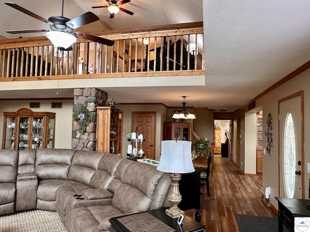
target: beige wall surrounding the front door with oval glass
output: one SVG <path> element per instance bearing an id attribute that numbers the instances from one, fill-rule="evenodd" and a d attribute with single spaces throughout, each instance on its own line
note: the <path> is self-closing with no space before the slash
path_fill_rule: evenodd
<path id="1" fill-rule="evenodd" d="M 263 187 L 262 193 L 264 194 L 264 189 L 267 186 L 271 187 L 270 200 L 273 206 L 278 208 L 278 202 L 275 199 L 275 196 L 279 196 L 279 133 L 278 133 L 278 101 L 282 98 L 285 98 L 291 94 L 294 94 L 298 91 L 303 90 L 303 99 L 304 99 L 304 150 L 305 150 L 305 160 L 302 167 L 302 172 L 305 174 L 304 182 L 304 194 L 305 198 L 308 199 L 308 188 L 309 188 L 309 178 L 310 174 L 307 173 L 307 162 L 310 162 L 310 121 L 307 120 L 310 118 L 310 70 L 306 70 L 303 73 L 297 75 L 288 82 L 282 84 L 281 86 L 275 88 L 271 92 L 265 94 L 263 97 L 257 99 L 256 105 L 262 106 L 263 110 L 263 131 L 266 130 L 266 118 L 268 113 L 273 117 L 272 124 L 272 148 L 270 156 L 266 152 L 263 155 Z M 241 115 L 245 109 L 236 112 L 237 115 Z M 243 122 L 241 122 L 241 128 L 244 128 Z M 267 146 L 266 136 L 263 135 L 263 148 Z M 244 156 L 245 152 L 241 150 L 241 158 Z"/>

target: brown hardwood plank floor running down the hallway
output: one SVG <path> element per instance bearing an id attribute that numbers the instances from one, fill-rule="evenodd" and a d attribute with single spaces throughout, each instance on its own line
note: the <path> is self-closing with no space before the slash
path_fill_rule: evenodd
<path id="1" fill-rule="evenodd" d="M 210 172 L 210 197 L 201 186 L 201 223 L 205 232 L 239 232 L 234 214 L 278 217 L 262 200 L 262 176 L 242 175 L 228 160 L 215 155 L 215 170 Z M 185 214 L 195 218 L 195 210 Z"/>

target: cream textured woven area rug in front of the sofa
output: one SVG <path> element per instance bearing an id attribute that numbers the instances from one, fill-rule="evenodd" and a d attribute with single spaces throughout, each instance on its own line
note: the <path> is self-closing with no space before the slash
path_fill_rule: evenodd
<path id="1" fill-rule="evenodd" d="M 57 212 L 27 210 L 0 216 L 0 232 L 66 232 Z"/>

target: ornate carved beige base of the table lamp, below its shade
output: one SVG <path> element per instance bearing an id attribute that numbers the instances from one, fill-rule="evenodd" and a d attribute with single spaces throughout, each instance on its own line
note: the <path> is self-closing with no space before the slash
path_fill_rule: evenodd
<path id="1" fill-rule="evenodd" d="M 184 215 L 178 204 L 181 203 L 182 196 L 179 191 L 179 180 L 181 180 L 180 174 L 171 174 L 171 190 L 168 196 L 169 202 L 172 206 L 169 209 L 166 209 L 166 214 L 172 218 L 180 217 L 181 214 Z"/>

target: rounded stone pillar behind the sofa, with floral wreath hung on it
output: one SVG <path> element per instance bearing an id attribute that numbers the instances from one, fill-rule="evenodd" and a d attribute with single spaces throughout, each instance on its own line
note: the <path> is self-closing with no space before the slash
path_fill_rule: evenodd
<path id="1" fill-rule="evenodd" d="M 78 132 L 78 122 L 72 119 L 72 149 L 90 150 L 96 149 L 96 116 L 97 106 L 103 106 L 108 99 L 108 94 L 96 88 L 75 88 L 73 112 L 81 105 L 85 105 L 88 111 L 93 114 L 93 121 L 86 125 L 83 134 Z"/>

